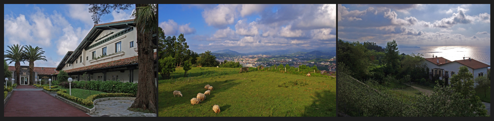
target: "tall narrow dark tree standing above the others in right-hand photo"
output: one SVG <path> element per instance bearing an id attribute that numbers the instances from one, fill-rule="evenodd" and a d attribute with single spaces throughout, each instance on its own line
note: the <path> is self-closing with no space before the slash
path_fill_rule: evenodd
<path id="1" fill-rule="evenodd" d="M 398 50 L 398 44 L 396 44 L 396 41 L 389 41 L 386 44 L 386 48 L 384 48 L 384 53 L 385 57 L 384 60 L 386 60 L 386 71 L 387 73 L 390 74 L 395 74 L 395 71 L 397 71 L 397 68 L 399 66 L 399 59 L 400 59 L 400 51 Z"/>

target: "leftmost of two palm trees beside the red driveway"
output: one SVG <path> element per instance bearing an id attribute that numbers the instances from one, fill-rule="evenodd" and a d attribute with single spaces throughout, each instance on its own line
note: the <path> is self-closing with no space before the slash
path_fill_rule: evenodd
<path id="1" fill-rule="evenodd" d="M 19 83 L 19 79 L 21 78 L 20 77 L 20 74 L 21 74 L 21 63 L 20 62 L 24 62 L 26 61 L 26 54 L 24 53 L 24 50 L 22 50 L 23 48 L 17 44 L 17 45 L 12 45 L 12 46 L 8 46 L 7 47 L 10 49 L 10 50 L 7 50 L 7 53 L 6 55 L 4 55 L 5 58 L 8 58 L 7 60 L 10 60 L 10 63 L 12 62 L 15 62 L 15 81 L 17 82 L 17 85 L 20 85 Z M 25 63 L 25 62 L 24 62 Z"/>

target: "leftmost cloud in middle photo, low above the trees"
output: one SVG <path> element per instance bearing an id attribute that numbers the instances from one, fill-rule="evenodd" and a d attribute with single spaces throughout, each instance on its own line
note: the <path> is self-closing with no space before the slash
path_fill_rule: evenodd
<path id="1" fill-rule="evenodd" d="M 168 21 L 162 22 L 159 26 L 163 29 L 166 35 L 178 35 L 180 33 L 183 34 L 191 34 L 195 33 L 195 28 L 189 27 L 190 23 L 185 25 L 178 25 L 175 21 L 168 19 Z"/>

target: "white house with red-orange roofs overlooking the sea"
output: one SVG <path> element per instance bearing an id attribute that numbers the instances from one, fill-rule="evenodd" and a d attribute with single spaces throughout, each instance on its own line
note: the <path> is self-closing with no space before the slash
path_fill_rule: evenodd
<path id="1" fill-rule="evenodd" d="M 468 71 L 473 74 L 474 78 L 479 76 L 487 76 L 487 71 L 490 69 L 491 65 L 480 62 L 478 60 L 474 60 L 472 58 L 463 60 L 447 60 L 443 57 L 435 57 L 435 58 L 426 58 L 422 60 L 423 63 L 427 64 L 429 68 L 429 76 L 432 77 L 434 75 L 438 75 L 439 79 L 445 80 L 448 84 L 451 84 L 448 79 L 451 78 L 451 75 L 458 73 L 458 68 L 460 66 L 466 66 Z"/>

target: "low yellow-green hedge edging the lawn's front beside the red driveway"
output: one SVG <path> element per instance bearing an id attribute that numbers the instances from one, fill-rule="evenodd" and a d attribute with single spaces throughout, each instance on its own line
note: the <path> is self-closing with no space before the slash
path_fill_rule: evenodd
<path id="1" fill-rule="evenodd" d="M 67 91 L 65 91 L 67 92 Z M 104 97 L 135 97 L 135 94 L 132 93 L 100 93 L 100 94 L 94 94 L 90 95 L 85 99 L 81 99 L 76 96 L 72 96 L 68 93 L 65 93 L 63 91 L 57 91 L 57 94 L 60 95 L 61 97 L 64 97 L 66 99 L 78 102 L 79 104 L 86 105 L 86 106 L 92 106 L 93 105 L 93 100 L 98 99 L 98 98 L 104 98 Z"/>

